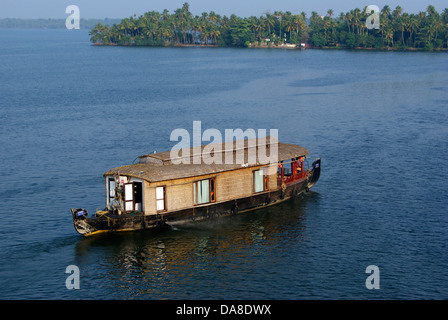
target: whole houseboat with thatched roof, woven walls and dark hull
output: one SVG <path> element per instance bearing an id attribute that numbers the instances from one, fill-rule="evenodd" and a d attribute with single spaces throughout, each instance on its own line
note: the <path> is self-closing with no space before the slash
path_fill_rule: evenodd
<path id="1" fill-rule="evenodd" d="M 205 145 L 182 149 L 177 159 L 172 151 L 143 155 L 138 163 L 105 172 L 106 206 L 91 216 L 83 208 L 71 209 L 76 231 L 89 236 L 239 214 L 307 192 L 319 179 L 321 160 L 309 165 L 309 152 L 301 146 L 273 137 L 263 144 L 240 142 L 213 148 L 212 163 L 200 157 L 210 150 Z M 275 161 L 253 156 L 262 149 L 275 151 Z M 224 161 L 229 155 L 240 161 Z M 199 161 L 186 161 L 198 156 Z"/>

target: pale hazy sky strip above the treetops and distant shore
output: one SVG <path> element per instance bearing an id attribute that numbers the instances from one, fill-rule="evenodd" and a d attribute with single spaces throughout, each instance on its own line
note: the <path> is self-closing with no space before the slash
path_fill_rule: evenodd
<path id="1" fill-rule="evenodd" d="M 240 17 L 261 16 L 266 11 L 291 11 L 294 13 L 312 11 L 325 15 L 333 9 L 335 15 L 354 8 L 377 5 L 380 9 L 389 5 L 394 9 L 400 5 L 405 12 L 425 11 L 432 4 L 438 12 L 448 7 L 447 0 L 0 0 L 0 18 L 66 18 L 65 8 L 77 5 L 81 18 L 124 18 L 137 16 L 147 11 L 170 13 L 188 2 L 194 15 L 215 11 L 217 14 Z"/>

